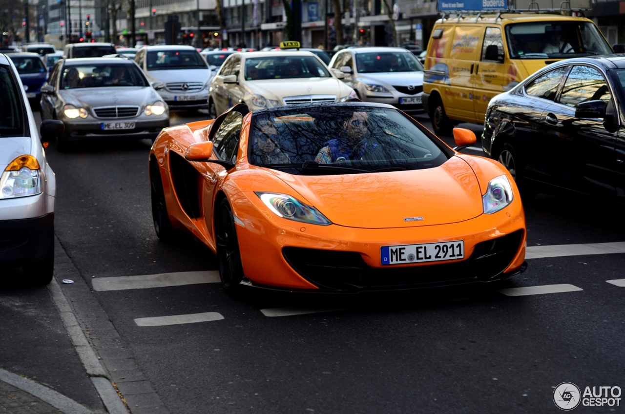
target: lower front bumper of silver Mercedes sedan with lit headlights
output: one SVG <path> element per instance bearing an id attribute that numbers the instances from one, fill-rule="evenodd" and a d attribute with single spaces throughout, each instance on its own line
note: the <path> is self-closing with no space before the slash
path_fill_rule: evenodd
<path id="1" fill-rule="evenodd" d="M 102 123 L 134 122 L 133 129 L 102 129 Z M 136 120 L 119 119 L 63 119 L 65 124 L 64 138 L 68 141 L 89 141 L 92 139 L 154 139 L 163 128 L 169 127 L 169 114 L 156 119 Z"/>

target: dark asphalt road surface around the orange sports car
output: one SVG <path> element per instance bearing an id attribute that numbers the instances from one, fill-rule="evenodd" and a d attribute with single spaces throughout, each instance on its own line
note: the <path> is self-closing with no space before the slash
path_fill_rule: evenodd
<path id="1" fill-rule="evenodd" d="M 205 116 L 175 113 L 171 123 Z M 419 120 L 430 126 L 427 117 Z M 56 235 L 89 284 L 216 270 L 214 255 L 196 241 L 168 244 L 154 234 L 149 147 L 139 141 L 93 143 L 73 153 L 47 149 L 58 183 Z M 528 246 L 537 253 L 625 241 L 622 208 L 606 203 L 541 194 L 526 215 Z M 202 283 L 94 291 L 93 300 L 171 413 L 555 413 L 552 393 L 564 381 L 582 392 L 624 389 L 625 288 L 606 281 L 625 277 L 625 253 L 528 263 L 498 287 L 578 289 L 516 297 L 492 288 L 355 297 L 252 291 L 233 299 L 217 283 Z M 276 308 L 316 313 L 261 312 Z M 135 321 L 205 312 L 223 318 L 168 326 Z M 575 411 L 625 411 L 622 405 Z"/>

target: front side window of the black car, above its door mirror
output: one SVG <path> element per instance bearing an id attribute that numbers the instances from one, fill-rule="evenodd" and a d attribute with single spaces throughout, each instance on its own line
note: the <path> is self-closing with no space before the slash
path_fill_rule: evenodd
<path id="1" fill-rule="evenodd" d="M 573 66 L 562 88 L 560 103 L 574 108 L 581 102 L 597 99 L 606 104 L 611 99 L 606 79 L 597 69 L 590 66 Z"/>

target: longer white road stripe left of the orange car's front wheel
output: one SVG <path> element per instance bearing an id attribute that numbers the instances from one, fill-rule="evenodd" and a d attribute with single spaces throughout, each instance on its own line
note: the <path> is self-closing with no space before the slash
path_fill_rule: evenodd
<path id="1" fill-rule="evenodd" d="M 168 286 L 196 285 L 197 283 L 219 283 L 219 271 L 181 271 L 159 273 L 158 275 L 116 276 L 96 278 L 93 290 L 127 290 L 144 288 L 166 288 Z"/>

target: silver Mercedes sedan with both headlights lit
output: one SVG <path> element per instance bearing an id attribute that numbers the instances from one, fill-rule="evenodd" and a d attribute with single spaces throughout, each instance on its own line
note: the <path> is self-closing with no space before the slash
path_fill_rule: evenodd
<path id="1" fill-rule="evenodd" d="M 67 151 L 78 141 L 154 140 L 169 126 L 169 108 L 134 61 L 61 59 L 41 87 L 41 118 L 63 121 L 56 143 Z"/>

